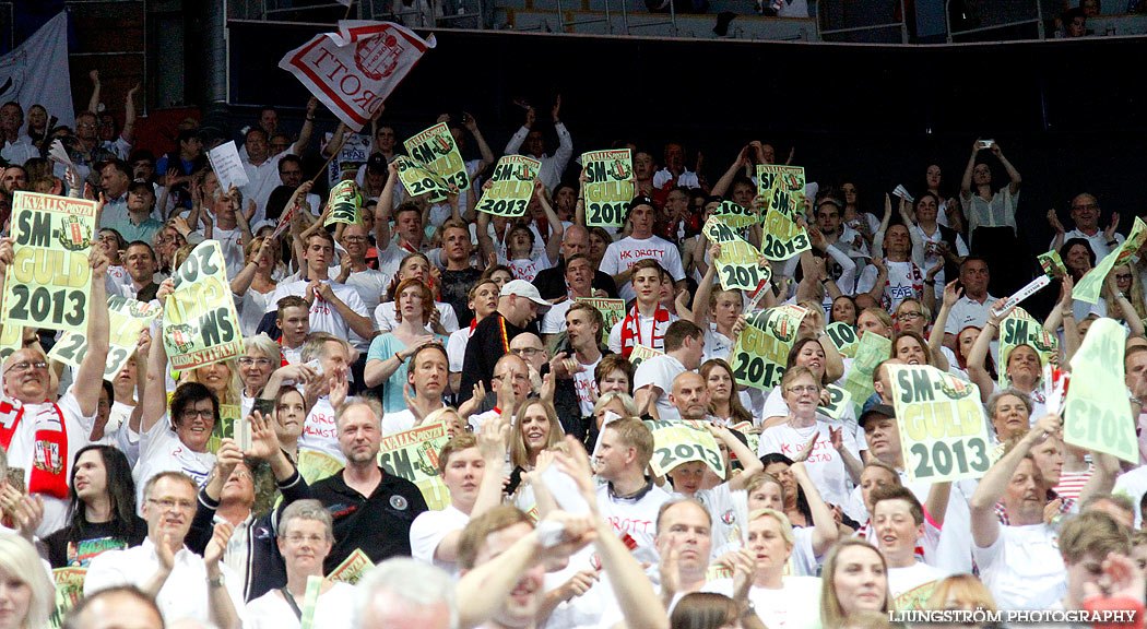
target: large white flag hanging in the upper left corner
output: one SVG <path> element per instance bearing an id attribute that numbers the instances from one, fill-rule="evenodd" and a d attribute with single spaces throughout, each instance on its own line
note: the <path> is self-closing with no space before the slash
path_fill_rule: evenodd
<path id="1" fill-rule="evenodd" d="M 15 50 L 0 57 L 0 103 L 16 101 L 28 110 L 41 104 L 61 125 L 75 126 L 71 81 L 68 78 L 68 14 L 40 26 Z"/>

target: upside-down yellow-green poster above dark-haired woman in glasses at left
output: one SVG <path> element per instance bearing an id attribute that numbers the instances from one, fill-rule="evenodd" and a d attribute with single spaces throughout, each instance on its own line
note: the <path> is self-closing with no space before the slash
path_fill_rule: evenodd
<path id="1" fill-rule="evenodd" d="M 243 337 L 219 242 L 200 243 L 173 277 L 175 290 L 163 308 L 163 344 L 172 369 L 194 369 L 242 354 Z"/>

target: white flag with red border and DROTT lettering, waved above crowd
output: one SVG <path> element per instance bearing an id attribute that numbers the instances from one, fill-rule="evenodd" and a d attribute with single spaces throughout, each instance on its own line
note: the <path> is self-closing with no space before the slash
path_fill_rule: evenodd
<path id="1" fill-rule="evenodd" d="M 296 48 L 279 68 L 298 77 L 340 120 L 360 131 L 422 53 L 434 48 L 392 22 L 344 19 L 337 33 L 322 33 Z"/>

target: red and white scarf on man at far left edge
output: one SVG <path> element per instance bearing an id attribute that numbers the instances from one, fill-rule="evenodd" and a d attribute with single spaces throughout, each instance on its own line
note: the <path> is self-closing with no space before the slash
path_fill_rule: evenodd
<path id="1" fill-rule="evenodd" d="M 8 449 L 16 434 L 26 407 L 18 400 L 0 401 L 0 446 Z M 32 445 L 32 472 L 28 483 L 30 494 L 47 494 L 68 498 L 68 424 L 58 404 L 45 404 L 36 416 L 36 438 Z"/>

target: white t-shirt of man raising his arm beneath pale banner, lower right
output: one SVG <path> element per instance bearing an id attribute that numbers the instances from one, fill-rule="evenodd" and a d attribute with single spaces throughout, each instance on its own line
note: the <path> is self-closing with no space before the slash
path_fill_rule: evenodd
<path id="1" fill-rule="evenodd" d="M 1067 593 L 1059 535 L 1047 525 L 1000 526 L 994 544 L 972 553 L 1000 610 L 1045 610 Z"/>

